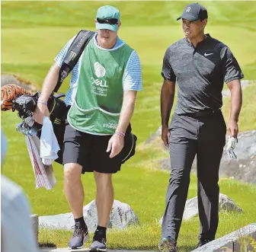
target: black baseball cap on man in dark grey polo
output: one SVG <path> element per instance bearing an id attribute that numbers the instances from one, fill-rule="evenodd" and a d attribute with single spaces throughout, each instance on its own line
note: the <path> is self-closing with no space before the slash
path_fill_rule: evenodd
<path id="1" fill-rule="evenodd" d="M 205 18 L 208 18 L 207 10 L 202 5 L 198 3 L 187 5 L 184 8 L 184 11 L 180 18 L 177 18 L 177 20 L 184 18 L 188 21 L 197 21 L 197 20 L 203 20 Z"/>

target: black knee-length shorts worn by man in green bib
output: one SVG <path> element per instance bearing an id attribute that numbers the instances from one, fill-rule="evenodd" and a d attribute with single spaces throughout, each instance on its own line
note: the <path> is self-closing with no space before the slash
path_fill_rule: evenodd
<path id="1" fill-rule="evenodd" d="M 122 151 L 114 158 L 110 158 L 110 152 L 106 151 L 111 136 L 92 135 L 67 125 L 63 144 L 63 164 L 75 163 L 82 165 L 82 174 L 92 171 L 115 174 L 120 171 L 127 153 L 134 155 L 135 150 L 131 148 L 132 144 L 129 136 L 129 134 L 125 136 Z M 133 135 L 134 137 L 136 138 Z M 136 142 L 136 139 L 134 140 Z"/>

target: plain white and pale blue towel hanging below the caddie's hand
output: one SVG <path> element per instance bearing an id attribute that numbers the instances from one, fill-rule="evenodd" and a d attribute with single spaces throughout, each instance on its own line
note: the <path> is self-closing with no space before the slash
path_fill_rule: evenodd
<path id="1" fill-rule="evenodd" d="M 53 123 L 49 117 L 43 117 L 43 127 L 40 137 L 40 158 L 43 164 L 52 164 L 58 158 L 59 144 L 53 132 Z"/>

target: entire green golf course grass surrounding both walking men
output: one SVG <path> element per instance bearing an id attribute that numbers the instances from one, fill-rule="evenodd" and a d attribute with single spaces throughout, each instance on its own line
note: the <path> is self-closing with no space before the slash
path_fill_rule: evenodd
<path id="1" fill-rule="evenodd" d="M 82 29 L 94 30 L 96 9 L 104 2 L 2 2 L 2 73 L 26 78 L 38 87 L 56 53 L 69 38 Z M 109 230 L 108 246 L 120 249 L 157 250 L 161 227 L 158 220 L 165 207 L 165 192 L 169 173 L 158 170 L 158 161 L 168 158 L 168 152 L 155 142 L 144 142 L 160 125 L 159 94 L 162 86 L 162 57 L 169 44 L 182 37 L 181 25 L 175 18 L 187 2 L 111 2 L 120 8 L 123 27 L 120 37 L 139 53 L 142 62 L 143 91 L 139 92 L 133 115 L 133 131 L 138 136 L 136 155 L 114 175 L 115 199 L 132 206 L 140 225 L 123 231 Z M 256 2 L 203 2 L 209 10 L 206 32 L 226 43 L 242 67 L 245 79 L 256 80 L 254 55 L 256 39 L 254 24 Z M 136 14 L 135 11 L 136 10 Z M 66 92 L 69 80 L 62 85 Z M 239 121 L 241 131 L 256 129 L 254 113 L 256 86 L 244 91 L 244 104 Z M 229 99 L 224 100 L 223 112 L 229 118 Z M 63 193 L 62 166 L 54 165 L 57 178 L 53 190 L 34 189 L 34 174 L 27 155 L 24 137 L 15 131 L 20 122 L 15 113 L 1 114 L 2 128 L 8 139 L 8 154 L 2 174 L 24 187 L 33 212 L 56 215 L 70 212 Z M 92 174 L 82 177 L 85 204 L 95 195 Z M 222 178 L 222 193 L 227 194 L 243 209 L 242 214 L 220 213 L 217 237 L 254 222 L 256 187 Z M 191 174 L 188 198 L 196 196 L 197 180 Z M 181 225 L 178 245 L 181 252 L 192 250 L 197 244 L 198 217 Z M 40 243 L 66 247 L 70 231 L 41 229 Z M 87 244 L 89 245 L 89 244 Z"/>

